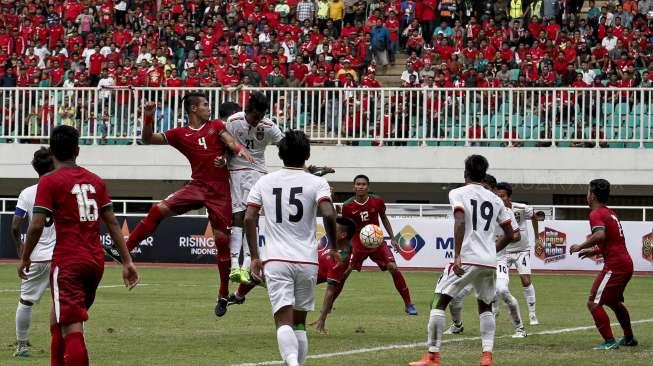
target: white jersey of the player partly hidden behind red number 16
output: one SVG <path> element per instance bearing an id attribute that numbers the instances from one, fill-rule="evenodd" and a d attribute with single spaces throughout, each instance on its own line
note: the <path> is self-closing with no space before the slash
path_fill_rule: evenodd
<path id="1" fill-rule="evenodd" d="M 32 220 L 32 211 L 34 210 L 34 201 L 36 200 L 36 187 L 36 184 L 29 186 L 23 189 L 18 196 L 18 203 L 16 204 L 14 215 L 27 219 L 27 222 Z M 41 238 L 36 244 L 36 247 L 34 247 L 30 260 L 32 262 L 45 262 L 52 260 L 52 252 L 54 251 L 54 244 L 56 241 L 57 234 L 54 230 L 54 220 L 52 217 L 48 217 Z"/>

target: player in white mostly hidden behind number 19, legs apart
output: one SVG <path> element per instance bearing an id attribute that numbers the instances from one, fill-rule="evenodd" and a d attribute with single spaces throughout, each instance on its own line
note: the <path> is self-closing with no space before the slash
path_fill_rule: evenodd
<path id="1" fill-rule="evenodd" d="M 485 179 L 483 180 L 483 186 L 494 192 L 497 187 L 497 180 L 494 178 L 494 176 L 490 174 L 485 175 Z M 511 210 L 508 210 L 508 213 L 510 214 L 510 223 L 511 223 L 511 228 L 513 232 L 513 243 L 516 241 L 519 241 L 520 239 L 520 234 L 519 234 L 519 225 L 517 224 L 517 220 L 515 219 L 515 215 Z M 503 229 L 500 227 L 498 228 L 498 232 L 496 233 L 497 238 L 503 236 Z M 510 245 L 510 244 L 509 244 Z M 513 323 L 513 326 L 515 327 L 515 333 L 512 335 L 513 338 L 525 338 L 527 336 L 526 329 L 524 329 L 524 323 L 522 322 L 521 318 L 521 312 L 519 310 L 519 303 L 517 302 L 517 299 L 515 299 L 514 296 L 510 293 L 510 289 L 508 288 L 507 284 L 508 282 L 503 280 L 506 276 L 508 276 L 508 269 L 505 266 L 505 264 L 502 263 L 501 261 L 501 256 L 505 253 L 505 249 L 501 251 L 500 253 L 497 253 L 497 283 L 496 283 L 496 298 L 495 301 L 492 302 L 492 309 L 494 312 L 495 317 L 498 314 L 498 304 L 497 301 L 502 300 L 506 306 L 508 307 L 508 312 L 510 313 L 510 317 Z M 452 323 L 451 326 L 449 326 L 449 329 L 447 329 L 444 334 L 461 334 L 464 330 L 463 327 L 463 322 L 462 322 L 462 311 L 463 311 L 463 302 L 465 297 L 470 295 L 472 293 L 473 287 L 470 285 L 467 285 L 453 300 L 451 300 L 451 303 L 449 304 L 449 311 L 451 312 L 451 317 L 452 317 Z"/>

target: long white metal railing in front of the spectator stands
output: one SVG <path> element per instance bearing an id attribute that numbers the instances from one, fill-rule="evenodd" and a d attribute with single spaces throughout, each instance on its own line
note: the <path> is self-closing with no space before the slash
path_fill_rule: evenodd
<path id="1" fill-rule="evenodd" d="M 0 142 L 76 126 L 86 144 L 139 142 L 143 102 L 156 131 L 185 123 L 180 88 L 0 88 Z M 653 89 L 257 88 L 282 130 L 315 142 L 409 146 L 653 147 Z M 214 115 L 246 89 L 204 89 Z"/>

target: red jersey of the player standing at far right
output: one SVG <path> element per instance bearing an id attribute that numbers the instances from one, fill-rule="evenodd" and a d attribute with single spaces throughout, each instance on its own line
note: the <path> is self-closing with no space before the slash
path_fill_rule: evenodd
<path id="1" fill-rule="evenodd" d="M 590 212 L 592 233 L 605 230 L 605 241 L 599 243 L 603 255 L 604 269 L 615 273 L 633 272 L 633 260 L 626 249 L 624 230 L 617 215 L 611 209 L 602 206 Z"/>

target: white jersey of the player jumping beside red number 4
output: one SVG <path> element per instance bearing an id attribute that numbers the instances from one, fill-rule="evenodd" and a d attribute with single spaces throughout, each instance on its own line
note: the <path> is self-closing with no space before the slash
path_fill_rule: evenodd
<path id="1" fill-rule="evenodd" d="M 254 169 L 267 173 L 265 148 L 281 141 L 284 135 L 279 127 L 269 118 L 263 118 L 258 126 L 252 127 L 245 120 L 245 112 L 238 112 L 227 118 L 226 129 L 254 158 L 252 164 L 240 156 L 233 156 L 229 160 L 229 170 Z"/>

